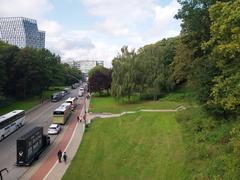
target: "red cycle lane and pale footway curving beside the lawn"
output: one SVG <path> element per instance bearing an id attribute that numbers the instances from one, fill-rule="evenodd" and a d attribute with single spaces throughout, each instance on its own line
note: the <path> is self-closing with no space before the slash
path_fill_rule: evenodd
<path id="1" fill-rule="evenodd" d="M 84 101 L 86 101 L 86 106 L 84 106 Z M 61 137 L 58 141 L 53 142 L 53 148 L 47 152 L 47 154 L 41 160 L 41 163 L 38 163 L 29 169 L 20 179 L 57 180 L 63 177 L 78 150 L 85 130 L 85 123 L 78 122 L 77 116 L 83 118 L 84 112 L 88 112 L 89 103 L 90 99 L 84 99 L 81 101 L 80 106 L 75 110 L 72 120 L 69 122 L 66 131 L 64 131 L 64 133 L 60 133 Z M 88 120 L 87 123 L 89 122 L 90 121 Z M 65 151 L 67 154 L 68 158 L 66 163 L 58 162 L 57 152 L 60 149 L 62 152 Z"/>

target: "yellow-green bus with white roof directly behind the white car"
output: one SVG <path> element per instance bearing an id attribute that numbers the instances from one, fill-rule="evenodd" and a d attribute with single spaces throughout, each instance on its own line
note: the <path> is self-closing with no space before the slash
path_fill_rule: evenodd
<path id="1" fill-rule="evenodd" d="M 71 115 L 71 104 L 63 103 L 55 111 L 53 111 L 53 123 L 64 125 Z"/>

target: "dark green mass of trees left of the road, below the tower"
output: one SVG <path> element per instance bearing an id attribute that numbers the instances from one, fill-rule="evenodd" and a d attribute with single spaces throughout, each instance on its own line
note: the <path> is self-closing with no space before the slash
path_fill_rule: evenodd
<path id="1" fill-rule="evenodd" d="M 0 42 L 0 94 L 26 98 L 40 95 L 51 85 L 76 82 L 81 72 L 62 64 L 59 56 L 47 49 L 22 48 Z"/>

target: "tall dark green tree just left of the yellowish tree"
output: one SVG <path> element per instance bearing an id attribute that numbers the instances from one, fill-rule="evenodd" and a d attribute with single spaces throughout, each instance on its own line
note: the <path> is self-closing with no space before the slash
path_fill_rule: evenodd
<path id="1" fill-rule="evenodd" d="M 203 49 L 203 44 L 211 38 L 209 8 L 217 1 L 178 0 L 178 2 L 182 5 L 182 8 L 175 17 L 182 20 L 181 41 L 187 49 L 192 51 L 189 52 L 190 57 L 186 54 L 185 60 L 182 59 L 181 62 L 190 63 L 190 66 L 187 66 L 190 67 L 187 81 L 197 92 L 198 99 L 202 103 L 206 103 L 210 98 L 213 86 L 212 80 L 218 74 L 218 69 L 215 63 L 211 61 L 209 50 Z M 179 64 L 175 64 L 175 68 L 176 65 Z M 180 75 L 181 72 L 183 71 L 178 72 L 177 75 Z"/>

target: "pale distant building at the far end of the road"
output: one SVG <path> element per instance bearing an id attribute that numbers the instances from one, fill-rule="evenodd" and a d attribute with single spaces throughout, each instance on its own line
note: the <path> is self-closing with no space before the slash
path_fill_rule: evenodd
<path id="1" fill-rule="evenodd" d="M 82 60 L 73 61 L 71 63 L 73 67 L 78 68 L 83 74 L 87 75 L 88 72 L 97 65 L 104 66 L 104 61 Z"/>

